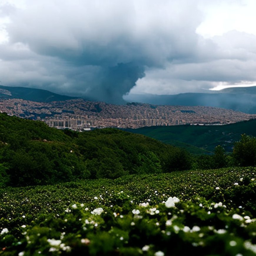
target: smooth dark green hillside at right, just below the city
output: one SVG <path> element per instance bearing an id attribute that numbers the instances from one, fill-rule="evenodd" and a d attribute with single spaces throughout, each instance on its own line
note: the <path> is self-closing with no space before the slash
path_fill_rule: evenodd
<path id="1" fill-rule="evenodd" d="M 199 147 L 208 152 L 213 152 L 217 145 L 221 145 L 227 152 L 232 152 L 233 144 L 240 139 L 241 134 L 245 133 L 247 135 L 256 136 L 256 120 L 222 126 L 179 125 L 168 127 L 143 127 L 126 130 L 137 134 L 143 134 L 171 145 L 177 145 L 177 143 L 173 141 L 179 141 Z M 183 145 L 182 147 L 194 153 L 194 149 L 191 150 L 189 145 Z"/>

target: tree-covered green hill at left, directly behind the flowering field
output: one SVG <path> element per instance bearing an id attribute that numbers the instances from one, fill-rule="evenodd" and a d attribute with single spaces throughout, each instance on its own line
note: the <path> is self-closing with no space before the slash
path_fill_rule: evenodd
<path id="1" fill-rule="evenodd" d="M 73 132 L 0 114 L 0 185 L 188 169 L 182 149 L 117 129 Z"/>

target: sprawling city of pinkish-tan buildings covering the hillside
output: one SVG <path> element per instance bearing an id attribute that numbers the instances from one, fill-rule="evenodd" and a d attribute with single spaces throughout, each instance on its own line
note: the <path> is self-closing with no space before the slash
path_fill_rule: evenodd
<path id="1" fill-rule="evenodd" d="M 114 105 L 72 99 L 32 102 L 22 99 L 0 100 L 0 111 L 18 117 L 42 120 L 59 129 L 172 125 L 222 125 L 255 119 L 256 115 L 215 107 L 157 106 L 141 103 Z"/>

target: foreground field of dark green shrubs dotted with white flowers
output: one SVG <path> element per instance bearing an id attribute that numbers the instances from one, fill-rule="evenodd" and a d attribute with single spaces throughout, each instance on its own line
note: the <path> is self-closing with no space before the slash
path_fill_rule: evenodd
<path id="1" fill-rule="evenodd" d="M 0 255 L 256 255 L 256 168 L 1 189 Z"/>

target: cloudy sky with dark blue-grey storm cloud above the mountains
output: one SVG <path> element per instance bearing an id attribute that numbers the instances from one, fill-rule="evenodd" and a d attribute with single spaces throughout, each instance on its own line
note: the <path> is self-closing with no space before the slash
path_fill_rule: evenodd
<path id="1" fill-rule="evenodd" d="M 253 86 L 255 11 L 255 0 L 0 0 L 0 84 L 112 103 Z"/>

